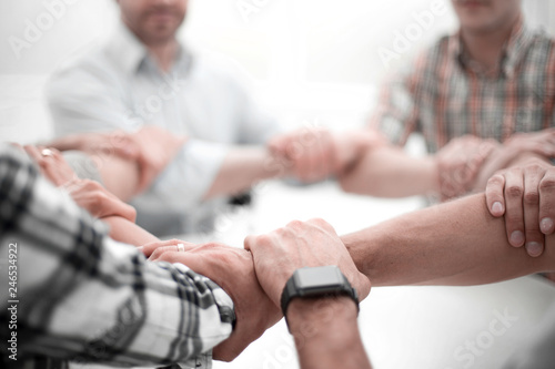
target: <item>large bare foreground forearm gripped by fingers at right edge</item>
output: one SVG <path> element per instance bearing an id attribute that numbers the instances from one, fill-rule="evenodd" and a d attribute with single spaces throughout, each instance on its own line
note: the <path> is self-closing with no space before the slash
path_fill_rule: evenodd
<path id="1" fill-rule="evenodd" d="M 406 214 L 342 237 L 373 286 L 476 285 L 555 269 L 555 237 L 532 258 L 507 242 L 483 194 Z"/>

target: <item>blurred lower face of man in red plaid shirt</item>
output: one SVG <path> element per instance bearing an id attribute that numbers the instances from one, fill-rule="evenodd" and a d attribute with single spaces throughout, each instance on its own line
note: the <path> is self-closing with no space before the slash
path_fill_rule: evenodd
<path id="1" fill-rule="evenodd" d="M 512 25 L 521 12 L 522 0 L 452 0 L 461 28 L 488 32 Z"/>

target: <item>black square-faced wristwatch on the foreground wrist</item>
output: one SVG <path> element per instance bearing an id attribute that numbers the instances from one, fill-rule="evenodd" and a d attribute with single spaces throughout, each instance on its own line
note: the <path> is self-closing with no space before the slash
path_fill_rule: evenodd
<path id="1" fill-rule="evenodd" d="M 287 307 L 295 297 L 349 296 L 359 309 L 359 295 L 341 269 L 334 265 L 296 269 L 281 295 L 281 309 L 285 320 Z"/>

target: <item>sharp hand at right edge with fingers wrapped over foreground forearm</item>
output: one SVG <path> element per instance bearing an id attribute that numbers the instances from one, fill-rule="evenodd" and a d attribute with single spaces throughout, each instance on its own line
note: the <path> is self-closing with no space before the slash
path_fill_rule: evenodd
<path id="1" fill-rule="evenodd" d="M 508 243 L 526 245 L 528 255 L 544 250 L 544 235 L 553 234 L 555 219 L 555 168 L 543 161 L 504 170 L 487 182 L 487 208 L 505 215 Z"/>

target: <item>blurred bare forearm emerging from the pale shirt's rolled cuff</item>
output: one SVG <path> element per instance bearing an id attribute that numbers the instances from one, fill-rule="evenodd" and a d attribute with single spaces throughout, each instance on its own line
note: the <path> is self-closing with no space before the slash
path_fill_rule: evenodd
<path id="1" fill-rule="evenodd" d="M 234 147 L 225 156 L 204 199 L 234 195 L 262 180 L 285 175 L 286 167 L 263 147 Z"/>

